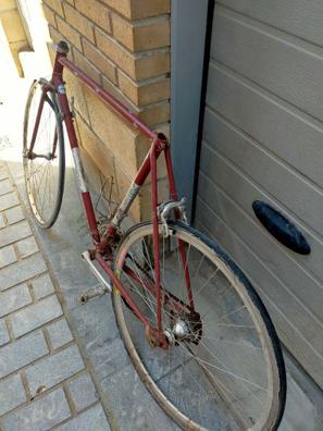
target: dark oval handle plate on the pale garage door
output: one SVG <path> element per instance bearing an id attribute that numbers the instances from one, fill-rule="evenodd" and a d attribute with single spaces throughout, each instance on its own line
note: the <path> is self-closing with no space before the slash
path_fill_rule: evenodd
<path id="1" fill-rule="evenodd" d="M 311 247 L 303 234 L 285 216 L 261 200 L 252 202 L 257 219 L 281 244 L 299 255 L 309 255 Z"/>

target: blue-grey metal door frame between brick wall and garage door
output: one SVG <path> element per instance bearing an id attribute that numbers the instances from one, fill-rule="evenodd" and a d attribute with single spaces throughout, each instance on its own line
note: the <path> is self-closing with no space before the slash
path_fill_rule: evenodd
<path id="1" fill-rule="evenodd" d="M 178 196 L 194 220 L 214 0 L 172 0 L 171 144 Z"/>

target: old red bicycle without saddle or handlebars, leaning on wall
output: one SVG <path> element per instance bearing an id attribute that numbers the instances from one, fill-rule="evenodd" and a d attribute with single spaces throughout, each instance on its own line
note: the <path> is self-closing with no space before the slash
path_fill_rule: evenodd
<path id="1" fill-rule="evenodd" d="M 51 79 L 34 81 L 26 104 L 23 162 L 35 221 L 49 229 L 61 208 L 64 123 L 92 239 L 83 258 L 102 285 L 101 292 L 88 293 L 84 300 L 112 293 L 116 322 L 138 374 L 181 427 L 276 430 L 285 406 L 286 375 L 279 342 L 260 297 L 220 246 L 187 224 L 166 137 L 97 85 L 67 53 L 67 44 L 60 41 Z M 151 139 L 103 232 L 79 156 L 64 67 Z M 160 204 L 157 159 L 162 152 L 170 199 Z M 50 176 L 53 167 L 58 174 Z M 121 223 L 149 173 L 152 221 L 123 232 Z"/>

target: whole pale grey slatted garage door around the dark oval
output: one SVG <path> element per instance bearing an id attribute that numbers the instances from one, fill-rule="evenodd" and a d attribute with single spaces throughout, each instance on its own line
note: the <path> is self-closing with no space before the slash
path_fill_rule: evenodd
<path id="1" fill-rule="evenodd" d="M 323 2 L 216 3 L 196 220 L 239 263 L 287 349 L 323 387 Z M 256 219 L 263 200 L 311 246 Z"/>

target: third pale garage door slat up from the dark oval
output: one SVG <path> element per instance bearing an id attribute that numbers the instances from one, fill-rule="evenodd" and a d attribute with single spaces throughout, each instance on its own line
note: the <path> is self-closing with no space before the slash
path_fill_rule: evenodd
<path id="1" fill-rule="evenodd" d="M 321 50 L 296 38 L 289 40 L 286 34 L 244 15 L 223 12 L 222 8 L 218 9 L 214 22 L 213 58 L 302 111 L 323 119 Z"/>

